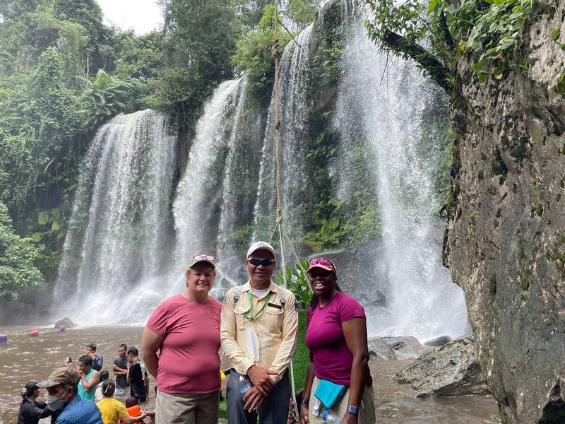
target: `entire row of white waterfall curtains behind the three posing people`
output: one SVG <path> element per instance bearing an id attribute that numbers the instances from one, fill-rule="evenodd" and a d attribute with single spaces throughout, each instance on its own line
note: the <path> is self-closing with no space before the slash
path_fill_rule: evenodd
<path id="1" fill-rule="evenodd" d="M 328 172 L 342 212 L 352 207 L 350 216 L 362 220 L 356 206 L 371 216 L 378 208 L 381 219 L 378 252 L 366 254 L 370 259 L 360 265 L 350 260 L 351 250 L 345 252 L 343 264 L 378 276 L 361 278 L 358 293 L 351 293 L 385 299 L 367 304 L 372 336 L 458 336 L 467 324 L 465 300 L 436 242 L 443 223 L 430 170 L 441 152 L 422 143 L 424 132 L 433 138 L 439 131 L 434 116 L 441 107 L 434 114 L 429 108 L 441 96 L 415 66 L 379 54 L 358 21 L 344 40 L 333 124 L 323 129 L 340 140 Z M 309 220 L 304 186 L 314 181 L 305 166 L 314 132 L 306 93 L 315 32 L 312 24 L 289 42 L 280 66 L 283 216 L 294 242 L 302 240 Z M 246 78 L 214 90 L 187 143 L 174 201 L 176 139 L 165 117 L 150 110 L 120 115 L 97 131 L 81 167 L 54 293 L 57 301 L 68 300 L 65 313 L 73 320 L 143 321 L 157 302 L 182 291 L 193 254 L 218 255 L 217 288 L 246 278 L 242 252 L 250 239 L 268 239 L 276 204 L 274 98 L 266 127 L 264 114 L 249 103 Z M 371 240 L 357 249 L 378 242 L 361 237 Z M 347 274 L 341 282 L 359 278 Z"/>

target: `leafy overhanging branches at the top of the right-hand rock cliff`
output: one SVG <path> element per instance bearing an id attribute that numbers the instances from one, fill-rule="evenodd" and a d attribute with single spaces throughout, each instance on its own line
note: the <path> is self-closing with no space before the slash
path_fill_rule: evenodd
<path id="1" fill-rule="evenodd" d="M 525 21 L 533 13 L 531 0 L 367 0 L 375 18 L 367 22 L 369 36 L 385 52 L 412 58 L 441 87 L 451 91 L 456 61 L 472 58 L 481 83 L 501 79 L 521 45 Z"/>

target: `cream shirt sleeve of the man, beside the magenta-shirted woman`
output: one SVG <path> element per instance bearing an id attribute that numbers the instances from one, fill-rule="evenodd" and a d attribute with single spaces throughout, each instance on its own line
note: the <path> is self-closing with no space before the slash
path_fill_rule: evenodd
<path id="1" fill-rule="evenodd" d="M 276 371 L 276 375 L 271 375 L 275 383 L 283 378 L 292 357 L 295 355 L 298 338 L 298 312 L 295 305 L 295 295 L 288 291 L 285 302 L 285 312 L 283 314 L 283 339 L 280 342 L 275 360 L 270 370 Z"/>

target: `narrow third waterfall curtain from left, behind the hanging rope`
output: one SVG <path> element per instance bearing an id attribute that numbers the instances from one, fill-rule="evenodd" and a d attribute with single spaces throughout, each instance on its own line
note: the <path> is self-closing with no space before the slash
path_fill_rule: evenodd
<path id="1" fill-rule="evenodd" d="M 280 61 L 280 137 L 281 167 L 284 172 L 282 181 L 283 217 L 285 228 L 293 240 L 302 235 L 305 217 L 297 204 L 302 203 L 304 194 L 304 158 L 306 156 L 307 117 L 305 83 L 310 66 L 312 47 L 312 28 L 310 24 L 297 37 L 290 41 Z M 257 203 L 255 206 L 254 239 L 268 239 L 275 223 L 276 182 L 275 182 L 275 100 L 274 93 L 270 102 L 268 125 L 259 174 Z"/>

